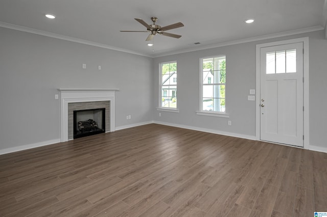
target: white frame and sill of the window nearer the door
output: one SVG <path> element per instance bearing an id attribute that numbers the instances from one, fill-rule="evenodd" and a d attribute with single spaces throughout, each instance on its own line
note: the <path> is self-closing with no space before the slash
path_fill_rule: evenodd
<path id="1" fill-rule="evenodd" d="M 205 111 L 203 110 L 203 103 L 202 103 L 202 97 L 203 97 L 203 60 L 209 59 L 209 58 L 224 58 L 226 61 L 226 55 L 216 55 L 216 56 L 210 56 L 210 57 L 203 57 L 200 58 L 200 101 L 199 101 L 199 111 L 196 112 L 197 115 L 204 115 L 204 116 L 214 116 L 214 117 L 222 117 L 222 118 L 229 118 L 229 115 L 227 114 L 227 107 L 225 104 L 225 112 L 217 112 L 217 111 Z M 227 62 L 227 61 L 226 61 Z M 226 70 L 227 71 L 227 70 Z M 227 80 L 227 79 L 226 79 Z M 211 85 L 214 85 L 215 83 L 211 82 Z M 225 103 L 226 103 L 226 83 L 225 85 Z"/>

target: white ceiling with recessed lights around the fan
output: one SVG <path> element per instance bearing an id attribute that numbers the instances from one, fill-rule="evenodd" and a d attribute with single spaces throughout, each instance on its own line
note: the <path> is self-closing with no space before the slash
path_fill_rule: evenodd
<path id="1" fill-rule="evenodd" d="M 36 30 L 43 35 L 69 37 L 69 40 L 82 39 L 90 44 L 156 57 L 277 33 L 322 30 L 325 1 L 0 0 L 0 26 L 28 32 Z M 45 13 L 57 17 L 50 20 Z M 145 31 L 134 18 L 151 24 L 152 16 L 158 17 L 156 24 L 161 26 L 182 22 L 184 27 L 167 31 L 182 37 L 157 35 L 152 52 L 145 41 L 148 33 L 120 32 Z M 246 24 L 247 18 L 255 21 Z M 195 45 L 195 42 L 201 44 Z"/>

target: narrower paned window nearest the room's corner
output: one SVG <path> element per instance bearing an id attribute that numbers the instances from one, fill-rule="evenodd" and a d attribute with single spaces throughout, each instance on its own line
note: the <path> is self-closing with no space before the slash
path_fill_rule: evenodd
<path id="1" fill-rule="evenodd" d="M 177 108 L 177 62 L 160 64 L 160 108 Z"/>

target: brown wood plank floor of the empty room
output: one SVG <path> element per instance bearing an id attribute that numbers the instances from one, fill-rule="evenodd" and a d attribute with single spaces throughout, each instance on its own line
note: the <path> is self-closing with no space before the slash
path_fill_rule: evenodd
<path id="1" fill-rule="evenodd" d="M 149 124 L 0 155 L 0 216 L 313 216 L 327 154 Z"/>

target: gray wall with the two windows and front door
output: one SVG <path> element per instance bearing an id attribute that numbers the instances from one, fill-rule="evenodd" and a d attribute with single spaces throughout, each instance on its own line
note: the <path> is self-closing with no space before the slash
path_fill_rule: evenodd
<path id="1" fill-rule="evenodd" d="M 255 45 L 292 38 L 309 37 L 309 91 L 310 91 L 310 145 L 327 150 L 325 140 L 327 107 L 327 41 L 324 31 L 279 37 L 269 40 L 241 43 L 193 52 L 180 53 L 154 59 L 155 93 L 153 107 L 158 106 L 159 63 L 177 61 L 177 98 L 179 113 L 155 111 L 154 120 L 207 131 L 223 131 L 226 134 L 255 136 L 255 102 L 248 101 L 250 89 L 255 89 Z M 226 55 L 226 111 L 228 119 L 196 115 L 199 111 L 200 58 Z M 158 113 L 161 113 L 159 117 Z"/>

